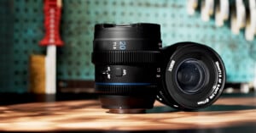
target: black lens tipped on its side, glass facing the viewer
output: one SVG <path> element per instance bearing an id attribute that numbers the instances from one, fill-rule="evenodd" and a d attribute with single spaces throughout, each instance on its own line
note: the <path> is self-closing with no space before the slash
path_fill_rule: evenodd
<path id="1" fill-rule="evenodd" d="M 179 42 L 163 48 L 161 58 L 161 103 L 183 110 L 206 108 L 222 93 L 224 63 L 211 47 Z"/>

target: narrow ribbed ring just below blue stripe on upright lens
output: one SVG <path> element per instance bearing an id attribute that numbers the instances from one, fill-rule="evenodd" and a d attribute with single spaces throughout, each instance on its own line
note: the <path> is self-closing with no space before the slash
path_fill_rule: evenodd
<path id="1" fill-rule="evenodd" d="M 157 86 L 95 86 L 96 92 L 109 95 L 146 95 L 156 93 Z"/>

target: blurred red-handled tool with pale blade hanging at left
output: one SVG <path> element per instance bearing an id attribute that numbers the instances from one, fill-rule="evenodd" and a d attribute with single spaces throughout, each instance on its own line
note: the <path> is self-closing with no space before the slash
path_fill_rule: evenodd
<path id="1" fill-rule="evenodd" d="M 41 46 L 47 47 L 45 73 L 45 92 L 56 92 L 56 47 L 61 47 L 63 42 L 60 36 L 61 0 L 44 0 L 44 28 L 45 36 L 40 41 Z"/>

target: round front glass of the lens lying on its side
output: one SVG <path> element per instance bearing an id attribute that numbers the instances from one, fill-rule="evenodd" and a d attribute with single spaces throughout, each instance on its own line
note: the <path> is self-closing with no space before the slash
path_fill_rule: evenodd
<path id="1" fill-rule="evenodd" d="M 207 67 L 195 58 L 184 60 L 177 66 L 178 87 L 185 93 L 195 93 L 207 83 Z"/>

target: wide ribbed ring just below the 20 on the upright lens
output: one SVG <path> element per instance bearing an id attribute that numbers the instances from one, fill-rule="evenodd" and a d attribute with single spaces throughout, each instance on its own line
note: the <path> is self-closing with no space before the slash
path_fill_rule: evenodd
<path id="1" fill-rule="evenodd" d="M 160 52 L 157 51 L 102 51 L 92 53 L 94 64 L 154 64 Z"/>

